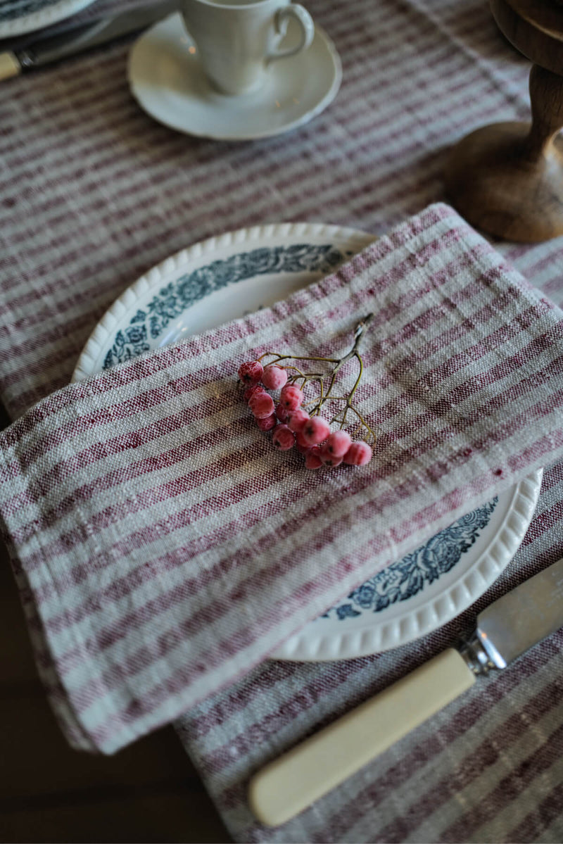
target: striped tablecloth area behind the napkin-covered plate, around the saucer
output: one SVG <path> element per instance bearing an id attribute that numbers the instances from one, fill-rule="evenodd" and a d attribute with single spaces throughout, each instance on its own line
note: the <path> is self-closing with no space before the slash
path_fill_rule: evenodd
<path id="1" fill-rule="evenodd" d="M 0 89 L 0 391 L 12 416 L 70 381 L 116 295 L 169 255 L 284 220 L 384 233 L 441 199 L 448 143 L 527 118 L 528 63 L 484 0 L 307 6 L 344 80 L 291 135 L 225 144 L 171 132 L 134 102 L 123 44 Z M 560 276 L 555 253 L 545 284 Z"/>

